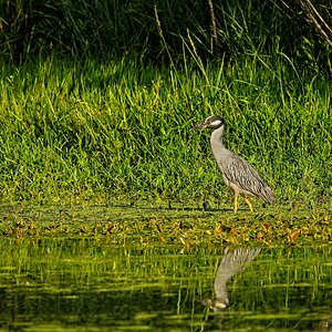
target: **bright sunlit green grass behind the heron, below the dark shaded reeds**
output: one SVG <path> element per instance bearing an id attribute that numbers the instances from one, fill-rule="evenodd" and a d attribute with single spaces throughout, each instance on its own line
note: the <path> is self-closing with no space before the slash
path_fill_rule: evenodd
<path id="1" fill-rule="evenodd" d="M 281 201 L 330 200 L 330 81 L 282 54 L 195 59 L 181 69 L 131 56 L 2 66 L 1 199 L 228 200 L 208 133 L 189 131 L 221 114 L 225 144 Z"/>

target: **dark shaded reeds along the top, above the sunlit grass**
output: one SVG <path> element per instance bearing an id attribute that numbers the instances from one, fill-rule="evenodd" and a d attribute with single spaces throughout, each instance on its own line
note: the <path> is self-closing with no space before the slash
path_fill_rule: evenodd
<path id="1" fill-rule="evenodd" d="M 104 60 L 131 53 L 156 63 L 181 63 L 189 31 L 204 60 L 281 51 L 304 68 L 325 71 L 328 64 L 331 72 L 330 2 L 312 1 L 315 21 L 312 15 L 307 20 L 304 2 L 3 0 L 1 58 L 18 63 L 53 52 Z"/>

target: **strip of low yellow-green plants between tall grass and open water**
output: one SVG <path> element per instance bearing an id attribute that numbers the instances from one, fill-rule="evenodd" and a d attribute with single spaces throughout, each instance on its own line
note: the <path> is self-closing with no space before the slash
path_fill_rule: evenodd
<path id="1" fill-rule="evenodd" d="M 77 237 L 106 239 L 131 247 L 172 246 L 184 252 L 224 243 L 304 246 L 332 240 L 332 214 L 284 206 L 253 214 L 177 205 L 154 207 L 95 204 L 2 207 L 0 231 L 4 237 Z"/>

